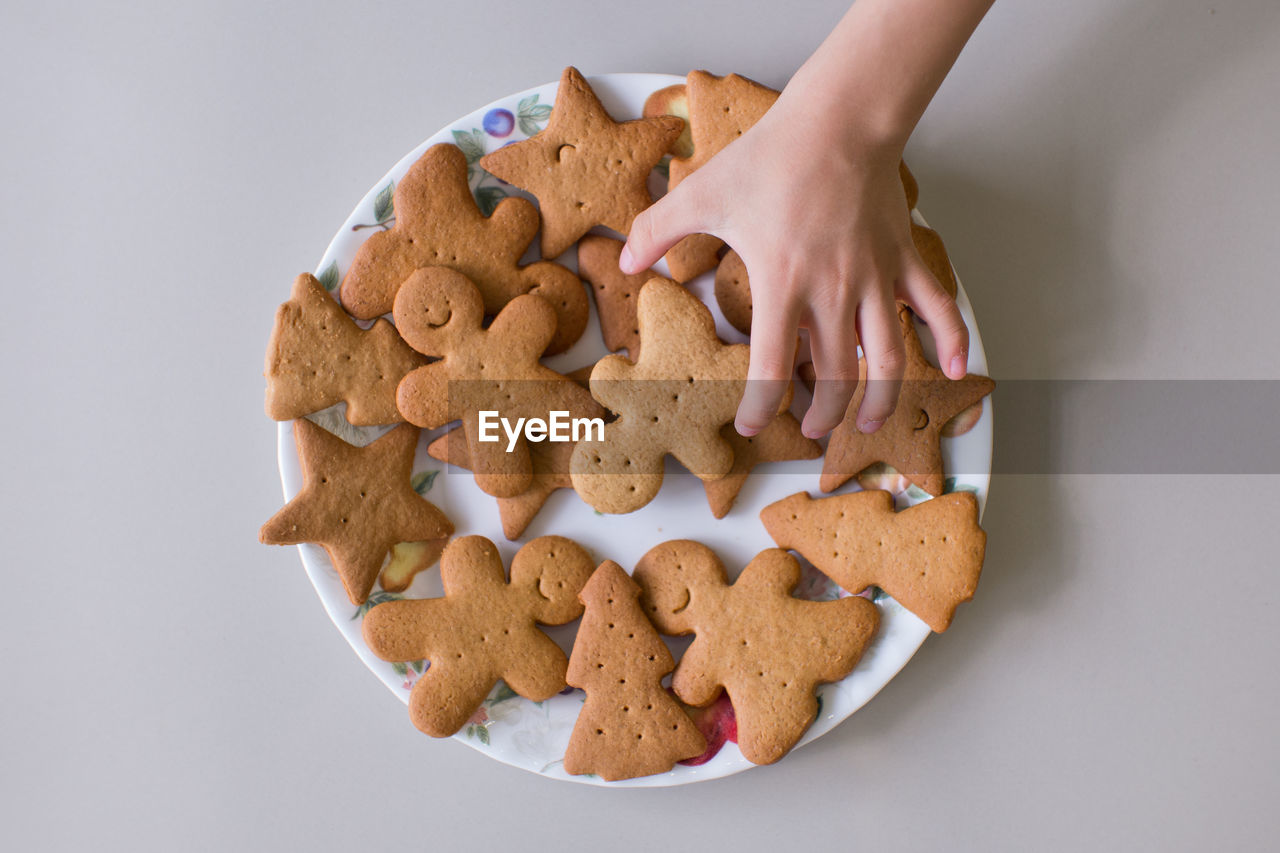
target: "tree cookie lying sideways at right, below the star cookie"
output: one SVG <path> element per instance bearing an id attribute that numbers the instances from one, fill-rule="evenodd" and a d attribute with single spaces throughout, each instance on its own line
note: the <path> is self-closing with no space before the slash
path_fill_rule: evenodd
<path id="1" fill-rule="evenodd" d="M 972 492 L 901 512 L 888 492 L 817 501 L 799 492 L 764 507 L 760 520 L 778 547 L 799 552 L 849 592 L 874 584 L 940 633 L 956 606 L 973 598 L 987 548 Z"/>

